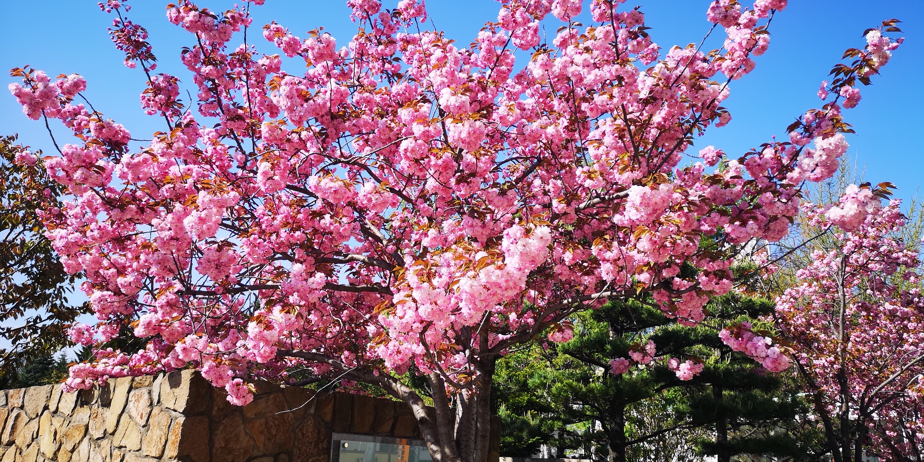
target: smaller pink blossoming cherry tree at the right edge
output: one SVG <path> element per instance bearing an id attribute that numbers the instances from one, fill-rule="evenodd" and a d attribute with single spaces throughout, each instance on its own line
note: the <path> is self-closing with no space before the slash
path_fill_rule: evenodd
<path id="1" fill-rule="evenodd" d="M 924 444 L 924 298 L 917 243 L 896 237 L 900 201 L 882 206 L 869 186 L 837 205 L 807 204 L 812 244 L 776 320 L 835 461 L 876 455 L 914 460 Z M 919 456 L 919 453 L 918 453 Z"/>

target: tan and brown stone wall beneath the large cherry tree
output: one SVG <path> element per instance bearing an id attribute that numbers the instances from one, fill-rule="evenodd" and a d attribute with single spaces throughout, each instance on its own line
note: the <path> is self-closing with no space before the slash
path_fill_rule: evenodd
<path id="1" fill-rule="evenodd" d="M 402 403 L 257 387 L 245 407 L 192 371 L 114 379 L 77 394 L 60 385 L 0 391 L 0 462 L 326 462 L 334 432 L 419 438 Z M 493 460 L 498 444 L 495 434 Z"/>

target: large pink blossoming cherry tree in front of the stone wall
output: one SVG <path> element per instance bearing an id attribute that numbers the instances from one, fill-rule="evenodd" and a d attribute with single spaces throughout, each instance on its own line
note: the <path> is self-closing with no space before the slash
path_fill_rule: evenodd
<path id="1" fill-rule="evenodd" d="M 789 141 L 732 160 L 710 147 L 691 164 L 692 140 L 730 120 L 729 83 L 766 51 L 785 0 L 713 2 L 724 42 L 711 51 L 662 49 L 621 0 L 591 1 L 586 27 L 579 0 L 505 1 L 468 47 L 426 30 L 422 3 L 348 0 L 352 40 L 272 23 L 268 54 L 247 42 L 261 3 L 168 6 L 193 38 L 189 106 L 176 76 L 154 73 L 128 6 L 101 5 L 148 78 L 142 108 L 166 125 L 141 149 L 75 100 L 79 76 L 14 70 L 26 115 L 77 137 L 45 161 L 73 196 L 45 213 L 48 236 L 99 319 L 74 339 L 126 327 L 149 339 L 98 348 L 70 389 L 191 367 L 243 405 L 250 380 L 308 369 L 297 383 L 361 381 L 407 403 L 434 460 L 484 461 L 499 356 L 538 335 L 568 340 L 568 316 L 607 298 L 649 293 L 678 322 L 702 320 L 732 287 L 733 257 L 701 239 L 784 237 L 800 185 L 845 152 L 839 102 L 859 100 L 833 83 Z M 541 21 L 562 24 L 549 43 Z M 881 29 L 867 38 L 842 80 L 869 79 L 898 45 Z M 280 54 L 307 70 L 283 70 Z M 685 264 L 696 274 L 681 277 Z M 433 407 L 407 372 L 429 381 Z"/>

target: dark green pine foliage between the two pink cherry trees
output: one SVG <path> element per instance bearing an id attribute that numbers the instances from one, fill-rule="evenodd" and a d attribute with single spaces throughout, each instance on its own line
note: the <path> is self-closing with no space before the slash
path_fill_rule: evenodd
<path id="1" fill-rule="evenodd" d="M 804 442 L 811 437 L 793 423 L 804 421 L 805 407 L 791 381 L 767 373 L 716 335 L 726 323 L 754 322 L 772 308 L 769 300 L 733 294 L 711 303 L 710 321 L 690 327 L 647 300 L 611 300 L 575 320 L 570 342 L 537 345 L 500 361 L 495 383 L 505 412 L 513 415 L 506 421 L 518 417 L 547 433 L 558 430 L 544 442 L 558 448 L 558 456 L 582 449 L 612 462 L 807 458 L 811 444 Z M 627 358 L 648 340 L 658 346 L 650 364 L 610 372 L 610 359 Z M 703 370 L 680 380 L 669 366 L 672 358 L 692 359 Z M 522 426 L 505 425 L 505 441 L 529 440 Z"/>

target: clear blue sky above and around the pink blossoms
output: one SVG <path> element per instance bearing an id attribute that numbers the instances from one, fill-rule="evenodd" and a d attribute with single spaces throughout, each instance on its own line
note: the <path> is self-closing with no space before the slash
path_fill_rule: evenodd
<path id="1" fill-rule="evenodd" d="M 394 6 L 397 0 L 385 0 Z M 146 27 L 159 71 L 187 79 L 188 73 L 178 60 L 181 46 L 191 44 L 191 35 L 167 22 L 165 1 L 131 2 L 128 17 Z M 232 1 L 209 0 L 202 6 L 225 9 Z M 447 31 L 459 43 L 469 43 L 484 21 L 496 18 L 494 0 L 430 0 L 429 10 L 437 28 Z M 626 6 L 641 5 L 646 13 L 652 39 L 663 49 L 673 44 L 699 42 L 709 29 L 705 10 L 708 0 L 628 0 Z M 267 0 L 266 5 L 252 8 L 258 32 L 263 24 L 276 20 L 296 34 L 323 26 L 338 39 L 349 41 L 355 25 L 343 0 Z M 883 75 L 871 87 L 863 89 L 863 101 L 857 109 L 846 111 L 857 136 L 850 137 L 848 155 L 866 165 L 867 179 L 893 181 L 900 197 L 910 197 L 921 185 L 924 152 L 918 135 L 920 109 L 924 105 L 921 74 L 924 65 L 924 1 L 892 0 L 790 0 L 790 6 L 772 23 L 770 51 L 758 58 L 755 72 L 733 83 L 732 96 L 726 106 L 734 117 L 726 128 L 711 129 L 698 146 L 714 144 L 736 154 L 784 135 L 784 128 L 794 117 L 810 107 L 817 107 L 815 96 L 819 83 L 838 62 L 847 47 L 861 46 L 863 30 L 879 25 L 887 18 L 899 18 L 905 31 L 905 44 Z M 76 72 L 89 81 L 86 95 L 106 116 L 125 124 L 135 138 L 147 138 L 162 129 L 156 117 L 145 116 L 139 108 L 139 94 L 144 76 L 140 70 L 124 67 L 122 55 L 106 35 L 110 15 L 96 6 L 95 0 L 59 0 L 6 2 L 0 18 L 0 68 L 30 64 L 49 75 Z M 275 49 L 258 34 L 251 38 L 261 51 Z M 298 72 L 298 67 L 289 67 Z M 187 79 L 188 80 L 188 79 Z M 5 83 L 13 81 L 6 77 Z M 194 92 L 193 92 L 194 94 Z M 27 119 L 14 98 L 4 91 L 0 95 L 0 127 L 3 133 L 18 132 L 20 140 L 33 147 L 52 149 L 39 122 Z M 55 132 L 66 138 L 65 131 Z"/>

